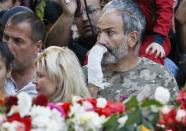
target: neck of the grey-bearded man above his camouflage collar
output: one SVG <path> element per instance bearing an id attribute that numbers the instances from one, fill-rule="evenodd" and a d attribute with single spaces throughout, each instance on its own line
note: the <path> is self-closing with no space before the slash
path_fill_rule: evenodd
<path id="1" fill-rule="evenodd" d="M 121 59 L 119 62 L 110 64 L 106 68 L 111 71 L 125 72 L 135 68 L 139 63 L 139 57 L 136 55 L 128 55 L 127 58 Z"/>

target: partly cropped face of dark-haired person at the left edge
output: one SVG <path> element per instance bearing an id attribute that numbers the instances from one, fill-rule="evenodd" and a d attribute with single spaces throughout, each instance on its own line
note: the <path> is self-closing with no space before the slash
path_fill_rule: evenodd
<path id="1" fill-rule="evenodd" d="M 0 89 L 4 88 L 4 83 L 7 78 L 8 71 L 6 68 L 6 63 L 2 56 L 0 55 Z"/>

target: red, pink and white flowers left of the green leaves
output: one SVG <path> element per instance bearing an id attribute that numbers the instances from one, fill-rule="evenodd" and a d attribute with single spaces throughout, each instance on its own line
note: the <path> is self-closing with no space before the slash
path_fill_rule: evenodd
<path id="1" fill-rule="evenodd" d="M 74 97 L 72 102 L 49 103 L 20 93 L 0 100 L 0 130 L 5 131 L 97 131 L 113 114 L 125 112 L 122 103 L 104 98 Z"/>

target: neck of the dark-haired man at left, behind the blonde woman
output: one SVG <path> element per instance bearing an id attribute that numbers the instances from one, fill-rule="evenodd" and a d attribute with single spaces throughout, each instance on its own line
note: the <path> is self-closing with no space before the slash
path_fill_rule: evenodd
<path id="1" fill-rule="evenodd" d="M 12 78 L 18 89 L 23 88 L 34 79 L 35 67 L 31 65 L 20 71 L 12 71 Z"/>

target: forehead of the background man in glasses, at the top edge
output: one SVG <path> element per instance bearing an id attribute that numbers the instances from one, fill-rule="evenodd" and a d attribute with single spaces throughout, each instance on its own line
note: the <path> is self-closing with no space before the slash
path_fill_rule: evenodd
<path id="1" fill-rule="evenodd" d="M 85 8 L 85 0 L 80 0 L 81 1 L 81 9 Z M 100 0 L 86 0 L 87 6 L 95 6 L 95 7 L 101 7 Z"/>

